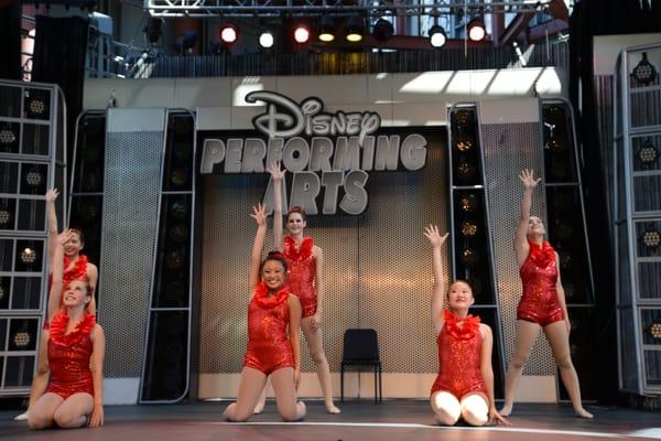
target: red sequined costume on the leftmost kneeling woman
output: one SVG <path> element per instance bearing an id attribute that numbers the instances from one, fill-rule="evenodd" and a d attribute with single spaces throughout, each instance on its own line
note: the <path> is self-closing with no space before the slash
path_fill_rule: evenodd
<path id="1" fill-rule="evenodd" d="M 94 315 L 85 313 L 76 329 L 66 334 L 68 321 L 69 316 L 66 312 L 57 313 L 51 321 L 48 338 L 51 379 L 46 392 L 57 394 L 64 399 L 78 392 L 87 392 L 94 397 L 94 381 L 89 370 L 93 349 L 89 334 L 96 320 Z"/>

